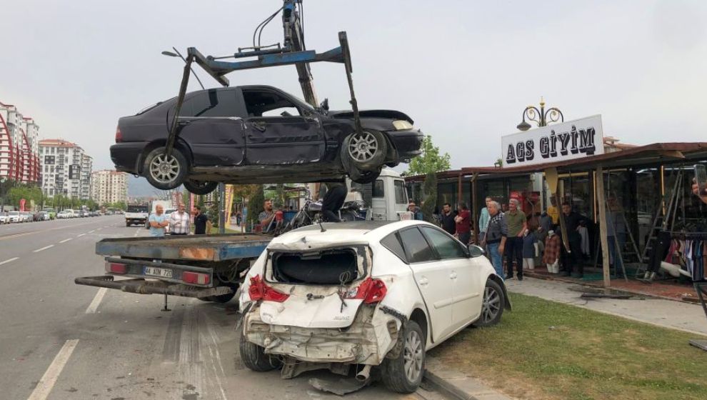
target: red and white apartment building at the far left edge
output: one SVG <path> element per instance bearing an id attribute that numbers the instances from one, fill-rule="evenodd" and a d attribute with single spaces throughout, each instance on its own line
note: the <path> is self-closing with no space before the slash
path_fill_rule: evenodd
<path id="1" fill-rule="evenodd" d="M 39 182 L 39 125 L 17 107 L 0 102 L 0 178 Z"/>

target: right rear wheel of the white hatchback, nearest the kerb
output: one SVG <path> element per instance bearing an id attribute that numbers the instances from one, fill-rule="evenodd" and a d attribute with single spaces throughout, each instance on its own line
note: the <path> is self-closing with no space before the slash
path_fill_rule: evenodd
<path id="1" fill-rule="evenodd" d="M 425 373 L 425 336 L 415 321 L 403 324 L 403 348 L 395 359 L 381 364 L 381 379 L 391 391 L 413 393 Z"/>

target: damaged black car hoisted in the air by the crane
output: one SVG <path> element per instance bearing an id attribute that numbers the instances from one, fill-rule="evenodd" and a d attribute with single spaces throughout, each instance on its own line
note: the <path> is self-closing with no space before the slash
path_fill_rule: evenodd
<path id="1" fill-rule="evenodd" d="M 219 181 L 234 184 L 368 183 L 384 165 L 421 153 L 423 133 L 401 111 L 313 108 L 272 86 L 236 86 L 186 94 L 179 138 L 168 156 L 164 143 L 176 98 L 118 121 L 111 159 L 116 169 L 145 176 L 157 189 L 181 184 L 208 194 Z"/>

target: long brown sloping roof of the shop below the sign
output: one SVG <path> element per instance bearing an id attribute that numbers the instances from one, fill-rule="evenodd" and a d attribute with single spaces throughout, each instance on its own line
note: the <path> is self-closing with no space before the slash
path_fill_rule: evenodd
<path id="1" fill-rule="evenodd" d="M 604 168 L 623 168 L 628 166 L 650 166 L 655 164 L 674 164 L 689 161 L 707 160 L 706 142 L 688 143 L 654 143 L 645 146 L 636 146 L 621 151 L 587 156 L 581 159 L 554 161 L 528 166 L 468 166 L 462 169 L 453 169 L 437 173 L 438 179 L 452 179 L 459 176 L 468 176 L 475 173 L 518 175 L 542 172 L 548 168 L 556 168 L 560 173 L 590 171 L 598 166 Z M 424 175 L 408 176 L 406 180 L 422 181 Z"/>

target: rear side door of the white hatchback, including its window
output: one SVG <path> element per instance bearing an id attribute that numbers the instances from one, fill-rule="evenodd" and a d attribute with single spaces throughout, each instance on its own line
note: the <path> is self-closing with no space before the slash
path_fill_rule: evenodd
<path id="1" fill-rule="evenodd" d="M 402 229 L 399 235 L 415 283 L 427 306 L 432 339 L 442 339 L 453 332 L 451 266 L 438 260 L 417 227 Z"/>

